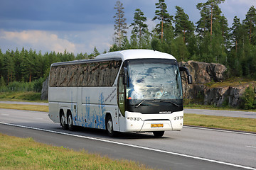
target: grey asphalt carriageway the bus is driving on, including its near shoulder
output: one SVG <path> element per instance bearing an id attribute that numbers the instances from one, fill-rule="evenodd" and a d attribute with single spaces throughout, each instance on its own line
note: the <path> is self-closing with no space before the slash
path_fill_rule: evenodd
<path id="1" fill-rule="evenodd" d="M 0 109 L 0 132 L 159 169 L 256 169 L 255 134 L 185 127 L 161 138 L 151 133 L 120 133 L 110 138 L 103 130 L 62 130 L 47 114 Z"/>

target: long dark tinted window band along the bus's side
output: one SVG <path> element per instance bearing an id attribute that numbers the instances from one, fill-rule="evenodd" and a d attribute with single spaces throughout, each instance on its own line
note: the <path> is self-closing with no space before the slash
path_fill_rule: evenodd
<path id="1" fill-rule="evenodd" d="M 68 64 L 51 67 L 51 87 L 112 86 L 121 61 Z"/>

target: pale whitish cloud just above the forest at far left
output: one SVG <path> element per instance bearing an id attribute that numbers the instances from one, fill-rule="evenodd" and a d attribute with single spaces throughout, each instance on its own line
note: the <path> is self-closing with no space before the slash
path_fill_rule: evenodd
<path id="1" fill-rule="evenodd" d="M 42 51 L 75 52 L 75 44 L 59 38 L 58 35 L 42 30 L 23 30 L 21 32 L 0 31 L 0 41 L 9 42 L 16 47 L 26 47 Z M 2 43 L 1 46 L 4 46 Z"/>

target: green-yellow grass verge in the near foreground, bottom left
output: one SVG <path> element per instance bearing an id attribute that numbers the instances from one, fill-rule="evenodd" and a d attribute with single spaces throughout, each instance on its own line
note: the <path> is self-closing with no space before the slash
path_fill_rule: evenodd
<path id="1" fill-rule="evenodd" d="M 0 133 L 0 169 L 147 169 L 127 160 L 112 160 L 82 150 L 53 147 Z"/>

